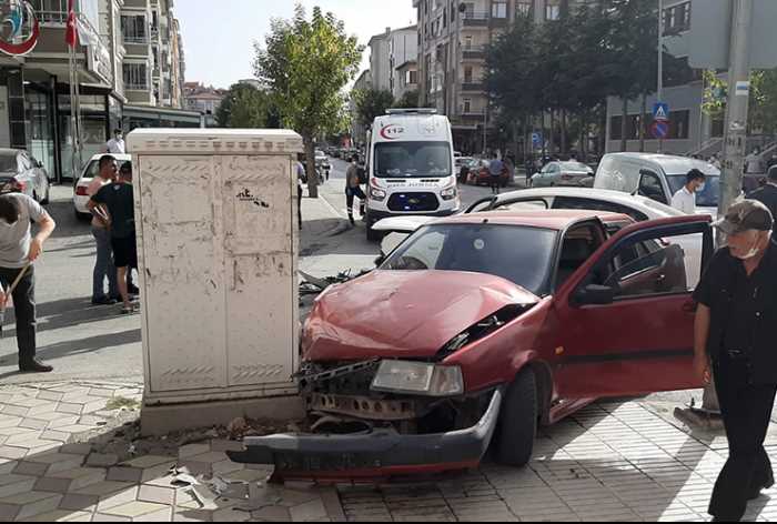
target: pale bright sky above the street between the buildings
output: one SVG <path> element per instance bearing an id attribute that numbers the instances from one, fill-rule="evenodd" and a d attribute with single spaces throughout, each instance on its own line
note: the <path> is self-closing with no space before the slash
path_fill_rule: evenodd
<path id="1" fill-rule="evenodd" d="M 238 80 L 253 78 L 253 42 L 264 42 L 273 18 L 289 19 L 292 0 L 176 0 L 186 59 L 185 80 L 215 88 L 229 88 Z M 349 34 L 366 46 L 387 27 L 415 23 L 413 0 L 300 0 L 310 13 L 319 6 L 345 22 Z M 214 9 L 218 8 L 218 9 Z M 219 14 L 221 12 L 222 14 Z M 370 67 L 365 50 L 362 70 Z"/>

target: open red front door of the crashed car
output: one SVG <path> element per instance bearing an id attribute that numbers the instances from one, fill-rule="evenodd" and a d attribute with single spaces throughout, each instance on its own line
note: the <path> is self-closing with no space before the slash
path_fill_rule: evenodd
<path id="1" fill-rule="evenodd" d="M 713 253 L 709 219 L 662 219 L 615 234 L 557 290 L 543 345 L 555 351 L 558 397 L 702 386 L 692 366 L 693 284 L 673 242 L 688 234 L 704 235 L 704 265 Z"/>

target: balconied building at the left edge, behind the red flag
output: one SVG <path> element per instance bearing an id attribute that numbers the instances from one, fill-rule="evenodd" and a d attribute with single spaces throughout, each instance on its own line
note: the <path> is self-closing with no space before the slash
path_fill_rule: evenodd
<path id="1" fill-rule="evenodd" d="M 52 179 L 62 180 L 102 152 L 114 128 L 199 125 L 192 114 L 176 112 L 183 56 L 171 0 L 77 0 L 73 71 L 65 43 L 68 0 L 28 3 L 26 23 L 37 19 L 40 34 L 28 54 L 0 53 L 0 147 L 28 149 Z M 78 99 L 71 95 L 75 84 Z M 80 109 L 75 121 L 73 101 Z M 170 114 L 149 113 L 158 109 Z"/>

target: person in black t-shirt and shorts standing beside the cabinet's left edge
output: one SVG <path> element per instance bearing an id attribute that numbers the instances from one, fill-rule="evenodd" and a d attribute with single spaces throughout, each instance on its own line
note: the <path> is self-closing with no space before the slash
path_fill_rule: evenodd
<path id="1" fill-rule="evenodd" d="M 102 213 L 100 204 L 108 208 L 108 215 Z M 89 201 L 93 213 L 102 214 L 111 231 L 111 248 L 113 263 L 117 266 L 119 293 L 122 300 L 122 314 L 135 310 L 130 301 L 127 285 L 127 274 L 138 268 L 138 245 L 135 240 L 134 198 L 132 192 L 132 164 L 125 162 L 115 182 L 104 185 Z"/>

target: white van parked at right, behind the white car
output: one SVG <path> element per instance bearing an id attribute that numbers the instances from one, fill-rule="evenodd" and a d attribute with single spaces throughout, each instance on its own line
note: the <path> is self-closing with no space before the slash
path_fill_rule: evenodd
<path id="1" fill-rule="evenodd" d="M 699 214 L 716 216 L 720 200 L 720 170 L 708 162 L 655 153 L 605 154 L 596 171 L 594 189 L 640 194 L 670 205 L 692 169 L 707 175 L 704 191 L 696 193 Z"/>

